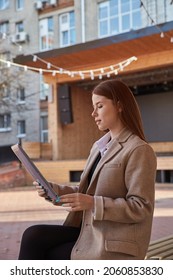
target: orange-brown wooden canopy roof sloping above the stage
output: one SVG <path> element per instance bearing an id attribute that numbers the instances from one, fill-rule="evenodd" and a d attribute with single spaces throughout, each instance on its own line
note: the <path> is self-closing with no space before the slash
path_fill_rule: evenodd
<path id="1" fill-rule="evenodd" d="M 172 68 L 173 22 L 164 24 L 162 30 L 164 38 L 161 38 L 158 29 L 152 26 L 66 48 L 40 52 L 36 55 L 46 62 L 70 71 L 102 68 L 132 56 L 136 56 L 137 61 L 124 68 L 121 75 Z M 42 69 L 47 67 L 39 60 L 34 62 L 33 55 L 18 56 L 15 62 Z M 81 80 L 80 76 L 72 78 L 64 74 L 56 75 L 55 78 L 59 83 Z"/>

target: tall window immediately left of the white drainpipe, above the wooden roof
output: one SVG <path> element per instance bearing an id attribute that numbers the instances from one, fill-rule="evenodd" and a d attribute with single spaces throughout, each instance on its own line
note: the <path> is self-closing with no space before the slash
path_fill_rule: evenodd
<path id="1" fill-rule="evenodd" d="M 60 15 L 60 46 L 73 45 L 76 42 L 75 13 Z"/>

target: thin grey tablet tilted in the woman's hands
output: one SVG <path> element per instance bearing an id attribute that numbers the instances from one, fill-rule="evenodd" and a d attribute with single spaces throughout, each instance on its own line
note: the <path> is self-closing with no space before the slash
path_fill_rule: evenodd
<path id="1" fill-rule="evenodd" d="M 15 145 L 11 146 L 11 149 L 16 154 L 16 156 L 21 161 L 21 163 L 24 165 L 24 167 L 28 171 L 28 173 L 33 177 L 33 179 L 35 181 L 37 181 L 43 187 L 48 198 L 50 200 L 58 200 L 58 195 L 54 192 L 51 185 L 43 177 L 41 172 L 38 170 L 38 168 L 35 166 L 35 164 L 29 158 L 27 153 L 23 150 L 21 145 L 15 144 Z"/>

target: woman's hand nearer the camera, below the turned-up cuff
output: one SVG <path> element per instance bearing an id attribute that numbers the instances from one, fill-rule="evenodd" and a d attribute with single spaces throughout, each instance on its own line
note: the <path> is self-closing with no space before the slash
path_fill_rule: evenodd
<path id="1" fill-rule="evenodd" d="M 94 197 L 83 193 L 71 193 L 60 196 L 63 207 L 69 207 L 69 211 L 83 211 L 94 208 Z"/>

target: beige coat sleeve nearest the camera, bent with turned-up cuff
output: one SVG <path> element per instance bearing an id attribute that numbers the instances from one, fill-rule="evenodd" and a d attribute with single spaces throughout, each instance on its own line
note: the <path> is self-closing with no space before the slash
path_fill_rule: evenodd
<path id="1" fill-rule="evenodd" d="M 95 220 L 138 223 L 154 210 L 156 157 L 149 145 L 136 147 L 125 167 L 126 195 L 112 199 L 95 197 Z"/>

